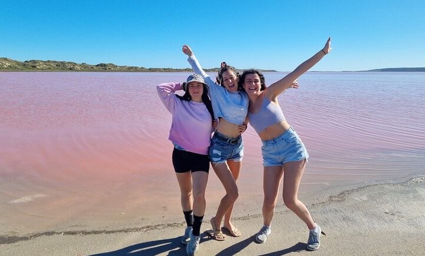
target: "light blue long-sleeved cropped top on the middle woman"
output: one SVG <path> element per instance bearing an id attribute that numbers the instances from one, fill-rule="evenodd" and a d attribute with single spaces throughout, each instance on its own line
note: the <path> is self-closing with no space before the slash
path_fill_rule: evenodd
<path id="1" fill-rule="evenodd" d="M 224 118 L 226 121 L 242 125 L 248 114 L 249 98 L 244 91 L 230 92 L 225 87 L 217 85 L 211 77 L 205 73 L 194 55 L 188 58 L 193 71 L 204 78 L 209 85 L 208 96 L 210 96 L 214 118 Z"/>

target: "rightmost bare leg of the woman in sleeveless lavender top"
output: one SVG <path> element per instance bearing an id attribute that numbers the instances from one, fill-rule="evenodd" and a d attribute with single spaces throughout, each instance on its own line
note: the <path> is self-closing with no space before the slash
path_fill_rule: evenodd
<path id="1" fill-rule="evenodd" d="M 302 174 L 304 173 L 307 161 L 289 162 L 283 165 L 285 175 L 283 177 L 283 202 L 286 207 L 293 211 L 297 216 L 304 221 L 308 229 L 314 229 L 314 223 L 307 207 L 298 200 L 298 189 L 301 182 Z"/>

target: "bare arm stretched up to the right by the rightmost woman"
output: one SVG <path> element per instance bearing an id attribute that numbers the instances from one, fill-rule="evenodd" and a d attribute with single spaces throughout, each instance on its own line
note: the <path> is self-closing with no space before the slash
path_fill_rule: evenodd
<path id="1" fill-rule="evenodd" d="M 323 49 L 313 55 L 313 57 L 297 66 L 294 71 L 287 74 L 284 78 L 280 79 L 273 85 L 267 87 L 264 91 L 266 93 L 266 96 L 271 100 L 275 100 L 276 97 L 284 90 L 293 87 L 294 81 L 296 81 L 299 76 L 301 76 L 302 74 L 307 72 L 307 70 L 317 64 L 326 54 L 331 51 L 331 49 L 331 38 L 329 38 L 328 41 L 325 43 Z"/>

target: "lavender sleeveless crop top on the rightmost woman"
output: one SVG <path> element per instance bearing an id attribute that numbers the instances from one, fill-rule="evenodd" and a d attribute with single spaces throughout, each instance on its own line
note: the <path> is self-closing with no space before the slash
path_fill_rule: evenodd
<path id="1" fill-rule="evenodd" d="M 251 126 L 260 134 L 265 128 L 285 120 L 282 109 L 264 97 L 260 110 L 256 113 L 248 112 Z"/>

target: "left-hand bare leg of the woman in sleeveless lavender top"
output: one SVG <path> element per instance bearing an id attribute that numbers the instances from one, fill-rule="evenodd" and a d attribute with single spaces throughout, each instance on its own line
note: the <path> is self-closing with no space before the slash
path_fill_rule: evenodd
<path id="1" fill-rule="evenodd" d="M 275 215 L 275 208 L 277 204 L 277 194 L 279 192 L 280 181 L 282 180 L 283 169 L 282 166 L 268 166 L 264 167 L 263 172 L 263 221 L 264 226 L 269 226 L 272 223 L 273 216 Z"/>

